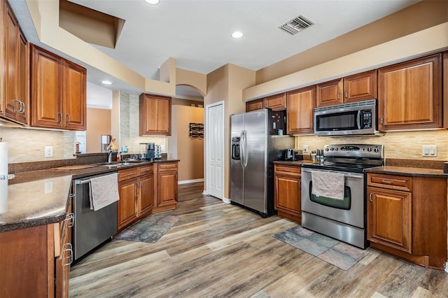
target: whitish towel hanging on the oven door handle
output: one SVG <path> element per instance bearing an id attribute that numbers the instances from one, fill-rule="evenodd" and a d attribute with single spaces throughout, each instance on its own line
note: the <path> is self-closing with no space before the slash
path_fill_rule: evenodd
<path id="1" fill-rule="evenodd" d="M 311 193 L 330 199 L 344 199 L 344 174 L 327 171 L 311 171 Z"/>

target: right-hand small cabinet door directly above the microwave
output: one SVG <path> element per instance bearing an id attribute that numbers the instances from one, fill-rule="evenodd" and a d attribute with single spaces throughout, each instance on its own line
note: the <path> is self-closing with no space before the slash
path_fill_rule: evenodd
<path id="1" fill-rule="evenodd" d="M 377 98 L 377 70 L 344 78 L 344 103 Z"/>

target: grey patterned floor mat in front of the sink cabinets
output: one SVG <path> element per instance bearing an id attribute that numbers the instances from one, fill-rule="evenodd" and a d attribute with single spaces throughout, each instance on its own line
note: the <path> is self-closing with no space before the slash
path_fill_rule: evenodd
<path id="1" fill-rule="evenodd" d="M 155 243 L 176 225 L 179 216 L 151 214 L 118 234 L 115 239 Z"/>

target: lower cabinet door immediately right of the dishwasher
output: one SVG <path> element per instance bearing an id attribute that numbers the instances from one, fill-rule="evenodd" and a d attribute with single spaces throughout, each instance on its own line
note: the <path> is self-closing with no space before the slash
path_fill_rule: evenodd
<path id="1" fill-rule="evenodd" d="M 118 230 L 137 220 L 137 196 L 139 183 L 137 178 L 118 183 Z"/>

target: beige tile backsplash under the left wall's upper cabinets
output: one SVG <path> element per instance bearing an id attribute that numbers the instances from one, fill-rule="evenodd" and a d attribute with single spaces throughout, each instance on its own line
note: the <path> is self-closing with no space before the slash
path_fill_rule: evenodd
<path id="1" fill-rule="evenodd" d="M 75 132 L 4 127 L 0 137 L 8 142 L 10 164 L 75 158 Z M 53 146 L 53 157 L 45 157 L 45 146 Z"/>

